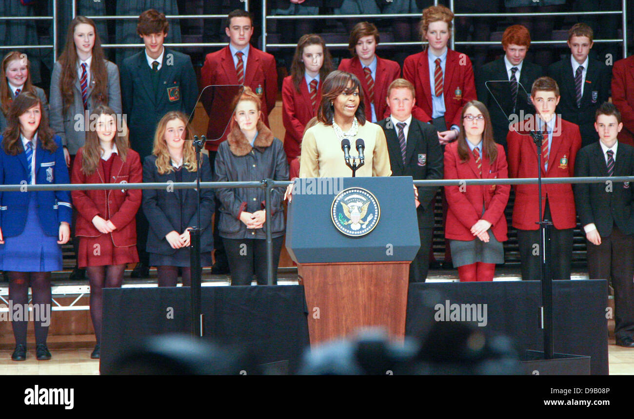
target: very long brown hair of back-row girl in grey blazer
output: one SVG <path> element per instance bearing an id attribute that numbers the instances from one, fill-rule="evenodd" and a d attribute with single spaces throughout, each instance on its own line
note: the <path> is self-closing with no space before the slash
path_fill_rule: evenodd
<path id="1" fill-rule="evenodd" d="M 105 56 L 101 48 L 101 41 L 97 28 L 94 26 L 93 20 L 85 16 L 76 16 L 70 25 L 66 34 L 66 46 L 60 55 L 61 77 L 60 92 L 61 100 L 64 104 L 64 112 L 68 111 L 70 104 L 74 101 L 75 80 L 77 80 L 77 47 L 75 46 L 74 34 L 75 27 L 86 23 L 91 25 L 94 31 L 93 59 L 90 64 L 91 84 L 93 84 L 93 95 L 95 104 L 108 104 L 108 72 L 106 70 Z"/>

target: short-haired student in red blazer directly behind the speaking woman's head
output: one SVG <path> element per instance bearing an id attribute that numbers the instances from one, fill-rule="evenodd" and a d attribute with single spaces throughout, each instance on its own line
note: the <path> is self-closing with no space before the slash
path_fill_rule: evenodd
<path id="1" fill-rule="evenodd" d="M 379 58 L 376 54 L 379 37 L 375 25 L 359 22 L 350 34 L 348 49 L 353 58 L 344 58 L 338 70 L 353 73 L 361 81 L 365 98 L 365 118 L 377 122 L 390 115 L 387 111 L 387 87 L 401 77 L 396 61 Z"/>

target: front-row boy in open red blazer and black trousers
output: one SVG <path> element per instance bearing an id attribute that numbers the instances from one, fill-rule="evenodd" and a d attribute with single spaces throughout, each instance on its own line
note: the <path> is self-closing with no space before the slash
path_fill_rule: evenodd
<path id="1" fill-rule="evenodd" d="M 578 125 L 555 115 L 559 104 L 559 86 L 550 77 L 540 77 L 531 89 L 531 102 L 536 115 L 515 123 L 507 135 L 508 174 L 514 178 L 537 177 L 537 147 L 530 130 L 547 132 L 542 147 L 542 177 L 573 177 L 574 160 L 581 148 Z M 541 201 L 541 208 L 538 202 Z M 573 228 L 576 225 L 573 187 L 571 184 L 541 185 L 541 200 L 536 184 L 515 186 L 513 227 L 517 228 L 517 241 L 522 260 L 522 279 L 539 280 L 541 253 L 540 216 L 551 220 L 550 268 L 553 279 L 570 279 L 573 255 Z"/>

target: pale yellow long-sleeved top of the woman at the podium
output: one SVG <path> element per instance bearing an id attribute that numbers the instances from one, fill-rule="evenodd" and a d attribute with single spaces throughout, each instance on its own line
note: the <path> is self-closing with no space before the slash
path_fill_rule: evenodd
<path id="1" fill-rule="evenodd" d="M 357 170 L 359 177 L 390 176 L 390 157 L 383 129 L 377 124 L 366 122 L 359 125 L 359 132 L 350 140 L 350 156 L 359 156 L 354 144 L 358 138 L 365 142 L 365 165 Z M 346 166 L 341 141 L 332 125 L 319 122 L 309 128 L 302 139 L 302 155 L 299 177 L 351 177 L 352 170 Z"/>

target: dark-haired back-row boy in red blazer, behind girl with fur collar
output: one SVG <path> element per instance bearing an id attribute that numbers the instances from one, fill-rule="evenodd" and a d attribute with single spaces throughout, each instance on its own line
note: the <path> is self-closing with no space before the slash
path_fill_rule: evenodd
<path id="1" fill-rule="evenodd" d="M 262 100 L 262 122 L 269 126 L 268 116 L 275 108 L 277 96 L 277 70 L 275 58 L 250 46 L 253 35 L 253 18 L 248 11 L 235 9 L 227 17 L 224 32 L 230 38 L 229 45 L 207 54 L 200 70 L 200 91 L 214 84 L 243 84 L 249 86 Z M 238 59 L 238 56 L 240 59 Z M 208 133 L 214 121 L 209 120 Z M 209 163 L 214 168 L 214 158 L 226 134 L 218 141 L 208 141 Z"/>

